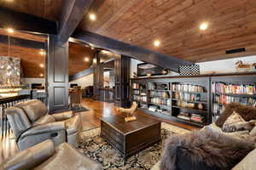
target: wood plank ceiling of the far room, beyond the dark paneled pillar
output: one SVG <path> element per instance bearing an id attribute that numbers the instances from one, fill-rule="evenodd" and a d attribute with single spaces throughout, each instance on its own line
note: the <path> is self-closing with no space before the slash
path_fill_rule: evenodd
<path id="1" fill-rule="evenodd" d="M 7 31 L 0 29 L 0 35 L 8 36 L 8 33 Z M 46 37 L 27 34 L 19 31 L 12 33 L 10 38 L 12 37 L 19 37 L 21 39 L 36 42 L 45 42 L 47 40 Z M 41 54 L 41 49 L 20 47 L 11 43 L 9 47 L 8 37 L 6 37 L 5 42 L 0 42 L 0 56 L 12 56 L 20 58 L 23 73 L 21 77 L 42 78 L 41 74 L 44 75 L 44 68 L 40 67 L 41 64 L 44 65 L 44 54 Z M 94 56 L 95 50 L 70 42 L 68 61 L 69 76 L 89 68 Z M 85 58 L 88 58 L 88 61 L 84 60 Z"/>

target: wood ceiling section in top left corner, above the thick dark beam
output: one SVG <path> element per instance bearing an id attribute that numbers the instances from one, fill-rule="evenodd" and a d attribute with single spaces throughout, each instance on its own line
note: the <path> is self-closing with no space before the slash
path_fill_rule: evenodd
<path id="1" fill-rule="evenodd" d="M 60 20 L 63 0 L 0 0 L 0 6 L 46 20 Z"/>

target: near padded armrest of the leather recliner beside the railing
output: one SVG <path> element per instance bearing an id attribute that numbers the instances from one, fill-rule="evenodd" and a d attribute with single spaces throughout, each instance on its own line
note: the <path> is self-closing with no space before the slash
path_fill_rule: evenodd
<path id="1" fill-rule="evenodd" d="M 25 133 L 22 133 L 22 135 L 20 136 L 20 139 L 23 139 L 26 136 L 32 136 L 32 135 L 43 134 L 43 133 L 55 133 L 62 130 L 66 130 L 65 122 L 50 122 L 50 123 L 32 127 L 26 130 Z"/>

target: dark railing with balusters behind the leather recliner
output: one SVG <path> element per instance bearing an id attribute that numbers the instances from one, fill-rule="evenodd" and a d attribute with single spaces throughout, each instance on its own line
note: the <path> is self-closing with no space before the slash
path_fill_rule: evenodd
<path id="1" fill-rule="evenodd" d="M 14 97 L 8 97 L 4 99 L 0 99 L 0 127 L 1 127 L 1 138 L 3 139 L 4 136 L 8 136 L 11 128 L 9 126 L 8 118 L 4 113 L 4 110 L 8 107 L 16 105 L 21 101 L 26 101 L 31 99 L 30 95 L 19 95 Z"/>

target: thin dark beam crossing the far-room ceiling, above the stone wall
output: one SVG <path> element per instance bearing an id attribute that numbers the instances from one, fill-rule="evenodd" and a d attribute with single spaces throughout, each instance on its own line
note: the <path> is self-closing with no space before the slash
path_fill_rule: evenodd
<path id="1" fill-rule="evenodd" d="M 0 35 L 0 43 L 8 44 L 10 40 L 11 46 L 20 46 L 24 48 L 35 48 L 35 49 L 41 49 L 44 48 L 44 42 L 38 42 L 38 41 L 32 41 L 32 40 L 26 40 L 21 39 L 19 37 L 8 37 L 4 35 Z"/>

